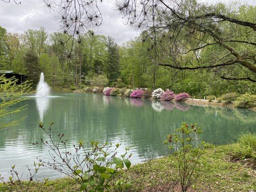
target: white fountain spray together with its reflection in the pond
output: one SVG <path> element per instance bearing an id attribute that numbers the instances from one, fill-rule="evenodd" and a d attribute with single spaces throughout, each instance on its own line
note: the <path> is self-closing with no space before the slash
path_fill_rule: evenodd
<path id="1" fill-rule="evenodd" d="M 41 72 L 39 83 L 37 84 L 37 93 L 36 93 L 36 103 L 37 103 L 37 110 L 39 113 L 40 120 L 43 120 L 44 113 L 46 112 L 49 106 L 49 93 L 50 87 L 45 82 L 44 73 Z"/>

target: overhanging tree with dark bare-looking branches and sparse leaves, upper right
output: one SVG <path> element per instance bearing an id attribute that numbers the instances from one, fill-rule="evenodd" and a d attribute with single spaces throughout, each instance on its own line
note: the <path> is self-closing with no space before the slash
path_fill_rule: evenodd
<path id="1" fill-rule="evenodd" d="M 242 6 L 237 12 L 223 4 L 189 0 L 122 0 L 117 7 L 127 24 L 147 30 L 151 48 L 162 49 L 157 60 L 151 57 L 156 64 L 178 70 L 212 69 L 223 79 L 256 82 L 255 7 Z M 209 50 L 211 59 L 202 60 Z"/>

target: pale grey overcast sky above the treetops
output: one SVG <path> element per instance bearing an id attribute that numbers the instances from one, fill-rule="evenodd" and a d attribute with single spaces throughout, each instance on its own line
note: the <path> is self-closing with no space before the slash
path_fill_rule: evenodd
<path id="1" fill-rule="evenodd" d="M 203 0 L 207 3 L 216 0 Z M 220 1 L 220 0 L 219 0 Z M 232 0 L 221 0 L 221 2 L 231 2 Z M 241 0 L 242 2 L 256 5 L 256 0 Z M 38 29 L 45 27 L 49 33 L 60 31 L 54 12 L 49 12 L 44 7 L 43 0 L 21 0 L 21 5 L 14 3 L 4 3 L 0 0 L 0 26 L 11 33 L 23 33 L 27 29 Z M 138 32 L 130 26 L 124 25 L 118 12 L 113 11 L 113 0 L 103 0 L 100 9 L 103 15 L 103 25 L 97 30 L 97 34 L 112 36 L 121 44 L 129 39 L 138 36 Z"/>

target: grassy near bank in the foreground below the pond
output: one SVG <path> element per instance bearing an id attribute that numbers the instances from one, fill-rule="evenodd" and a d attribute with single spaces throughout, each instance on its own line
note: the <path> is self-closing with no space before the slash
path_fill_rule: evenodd
<path id="1" fill-rule="evenodd" d="M 232 155 L 240 150 L 239 144 L 213 146 L 206 149 L 201 159 L 201 174 L 189 192 L 254 192 L 256 191 L 255 159 L 238 160 Z M 232 160 L 233 159 L 233 160 Z M 125 178 L 141 178 L 134 188 L 141 192 L 167 192 L 177 177 L 177 165 L 173 157 L 163 157 L 144 164 L 135 165 Z M 7 192 L 2 186 L 1 192 Z M 13 189 L 15 191 L 15 189 Z M 48 181 L 41 192 L 77 192 L 79 185 L 64 178 Z M 179 185 L 174 191 L 180 191 Z M 30 192 L 38 192 L 36 186 Z M 132 191 L 131 191 L 132 192 Z M 172 192 L 172 191 L 170 191 Z"/>

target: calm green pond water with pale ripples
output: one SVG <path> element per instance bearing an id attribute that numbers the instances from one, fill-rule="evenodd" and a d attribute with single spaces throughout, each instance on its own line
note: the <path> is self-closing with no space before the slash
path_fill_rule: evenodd
<path id="1" fill-rule="evenodd" d="M 198 123 L 204 131 L 200 139 L 212 144 L 229 144 L 242 133 L 256 132 L 256 112 L 238 108 L 71 93 L 30 97 L 22 105 L 27 105 L 27 109 L 10 119 L 27 118 L 0 132 L 0 173 L 5 177 L 9 177 L 7 171 L 11 165 L 24 172 L 37 157 L 49 157 L 45 146 L 32 145 L 46 138 L 38 128 L 40 120 L 45 126 L 54 122 L 52 135 L 56 138 L 64 133 L 71 151 L 79 140 L 84 140 L 88 147 L 91 140 L 122 143 L 120 152 L 133 146 L 133 164 L 166 155 L 163 140 L 182 122 Z M 63 175 L 41 168 L 37 178 L 44 177 L 54 179 Z"/>

